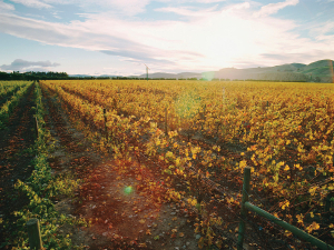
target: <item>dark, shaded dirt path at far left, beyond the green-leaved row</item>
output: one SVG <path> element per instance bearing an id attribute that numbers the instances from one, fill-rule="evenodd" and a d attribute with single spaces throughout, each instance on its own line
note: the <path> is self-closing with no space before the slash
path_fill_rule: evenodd
<path id="1" fill-rule="evenodd" d="M 0 219 L 16 221 L 13 211 L 20 210 L 27 204 L 28 199 L 19 196 L 14 189 L 18 179 L 27 180 L 31 176 L 33 166 L 31 153 L 35 143 L 35 84 L 29 87 L 28 92 L 21 99 L 19 106 L 9 118 L 7 128 L 0 130 Z M 12 228 L 0 227 L 0 246 L 11 233 Z"/>

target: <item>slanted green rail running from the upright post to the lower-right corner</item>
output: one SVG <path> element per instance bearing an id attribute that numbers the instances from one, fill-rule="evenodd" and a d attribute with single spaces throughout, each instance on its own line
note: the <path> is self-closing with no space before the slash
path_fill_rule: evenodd
<path id="1" fill-rule="evenodd" d="M 310 243 L 318 247 L 320 249 L 322 250 L 334 250 L 334 248 L 327 243 L 325 243 L 324 241 L 304 232 L 303 230 L 285 222 L 284 220 L 281 220 L 279 218 L 277 217 L 274 217 L 273 214 L 262 210 L 261 208 L 249 203 L 248 201 L 245 202 L 245 208 L 253 211 L 253 212 L 256 212 L 257 214 L 271 220 L 272 222 L 281 226 L 282 228 L 291 231 L 292 233 L 294 233 L 295 236 L 299 237 L 301 239 L 305 240 L 305 241 L 308 241 Z"/>

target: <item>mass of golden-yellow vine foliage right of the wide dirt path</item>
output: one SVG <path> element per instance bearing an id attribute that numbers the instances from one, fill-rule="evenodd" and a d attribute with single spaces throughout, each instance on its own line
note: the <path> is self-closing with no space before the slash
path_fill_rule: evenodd
<path id="1" fill-rule="evenodd" d="M 96 149 L 122 164 L 120 173 L 131 171 L 128 162 L 138 163 L 137 180 L 158 203 L 176 199 L 205 207 L 203 179 L 240 186 L 249 166 L 252 189 L 267 198 L 271 212 L 315 236 L 320 230 L 330 236 L 331 84 L 68 80 L 41 86 L 57 94 Z M 174 189 L 176 177 L 186 181 L 187 192 Z M 220 223 L 219 218 L 206 221 Z"/>

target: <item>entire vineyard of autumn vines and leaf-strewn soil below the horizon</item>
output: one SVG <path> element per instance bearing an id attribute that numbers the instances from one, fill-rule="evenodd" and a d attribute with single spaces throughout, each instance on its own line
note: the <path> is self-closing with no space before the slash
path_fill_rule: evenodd
<path id="1" fill-rule="evenodd" d="M 332 84 L 1 82 L 0 129 L 29 91 L 35 170 L 13 193 L 29 202 L 0 248 L 27 249 L 38 218 L 47 249 L 236 249 L 245 167 L 252 203 L 334 244 Z M 245 222 L 244 249 L 316 249 Z"/>

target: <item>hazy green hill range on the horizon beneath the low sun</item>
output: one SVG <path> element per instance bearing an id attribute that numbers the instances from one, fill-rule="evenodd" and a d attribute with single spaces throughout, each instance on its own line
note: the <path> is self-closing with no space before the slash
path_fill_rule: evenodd
<path id="1" fill-rule="evenodd" d="M 310 64 L 288 63 L 274 67 L 258 67 L 248 69 L 224 68 L 218 71 L 203 73 L 148 73 L 150 79 L 175 78 L 175 79 L 229 79 L 229 80 L 271 80 L 271 81 L 314 81 L 333 82 L 334 61 L 330 59 L 320 60 Z M 146 78 L 146 74 L 131 76 L 130 78 Z"/>

